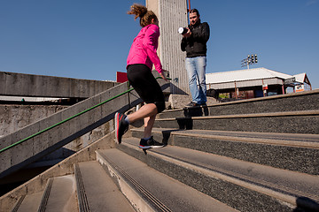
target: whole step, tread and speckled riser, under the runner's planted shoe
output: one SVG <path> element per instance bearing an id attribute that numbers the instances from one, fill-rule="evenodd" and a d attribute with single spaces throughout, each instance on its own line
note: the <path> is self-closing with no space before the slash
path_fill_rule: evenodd
<path id="1" fill-rule="evenodd" d="M 317 176 L 173 146 L 145 155 L 138 142 L 127 138 L 118 148 L 239 211 L 319 209 Z"/>

